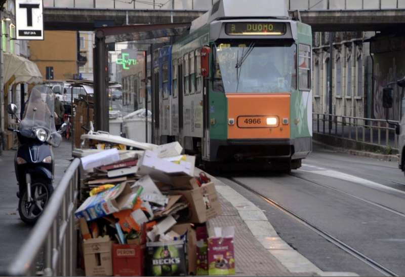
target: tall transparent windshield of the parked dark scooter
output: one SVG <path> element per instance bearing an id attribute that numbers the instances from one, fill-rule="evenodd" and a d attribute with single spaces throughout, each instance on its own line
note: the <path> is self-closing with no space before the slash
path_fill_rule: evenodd
<path id="1" fill-rule="evenodd" d="M 58 147 L 62 137 L 55 128 L 54 106 L 55 96 L 49 87 L 44 85 L 33 87 L 20 124 L 21 135 L 36 138 L 36 131 L 43 129 L 47 132 L 46 142 Z"/>

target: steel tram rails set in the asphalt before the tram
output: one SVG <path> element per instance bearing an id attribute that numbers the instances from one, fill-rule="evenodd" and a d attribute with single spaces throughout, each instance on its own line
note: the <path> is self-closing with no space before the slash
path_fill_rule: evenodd
<path id="1" fill-rule="evenodd" d="M 297 177 L 294 175 L 291 175 L 293 177 Z M 298 177 L 297 177 L 298 178 Z M 235 184 L 249 190 L 250 192 L 256 194 L 257 196 L 261 197 L 261 199 L 263 199 L 264 201 L 266 201 L 268 204 L 270 204 L 271 206 L 273 206 L 274 208 L 276 208 L 277 210 L 280 210 L 282 212 L 284 212 L 285 214 L 287 214 L 288 216 L 292 217 L 293 219 L 297 220 L 299 223 L 305 225 L 307 228 L 309 228 L 310 230 L 314 231 L 315 233 L 317 233 L 318 235 L 320 235 L 322 238 L 326 239 L 328 242 L 334 244 L 336 247 L 338 247 L 339 249 L 345 251 L 346 253 L 350 254 L 351 256 L 359 259 L 360 261 L 362 261 L 363 263 L 369 265 L 370 267 L 374 268 L 375 270 L 381 272 L 384 276 L 399 276 L 397 273 L 395 273 L 394 271 L 390 270 L 389 268 L 383 266 L 382 264 L 378 263 L 377 261 L 373 260 L 372 258 L 368 257 L 366 254 L 361 253 L 360 251 L 354 249 L 353 247 L 345 244 L 343 241 L 339 240 L 338 238 L 336 238 L 336 236 L 330 234 L 329 232 L 322 230 L 321 228 L 317 227 L 316 225 L 314 225 L 313 223 L 307 221 L 305 218 L 303 218 L 302 216 L 296 214 L 295 212 L 289 210 L 288 208 L 282 206 L 281 204 L 277 203 L 276 201 L 269 199 L 267 196 L 261 194 L 260 192 L 252 189 L 250 186 L 234 179 L 234 178 L 228 178 L 230 181 L 234 182 Z M 300 178 L 300 179 L 304 179 L 304 178 Z M 304 179 L 305 180 L 305 179 Z M 305 180 L 308 181 L 308 180 Z M 323 185 L 321 185 L 323 186 Z M 330 188 L 328 186 L 325 186 L 327 188 Z M 333 188 L 334 189 L 334 188 Z M 335 189 L 334 189 L 335 190 Z M 341 192 L 339 190 L 336 190 L 337 192 Z M 349 194 L 349 193 L 348 193 Z M 353 195 L 354 196 L 354 195 Z M 355 196 L 357 197 L 357 196 Z M 367 200 L 366 200 L 367 201 Z M 372 202 L 371 202 L 372 203 Z M 376 204 L 376 203 L 375 203 Z M 392 210 L 388 207 L 382 206 L 380 204 L 376 204 L 379 205 L 379 208 L 382 208 L 384 210 L 393 212 L 395 214 L 398 214 L 402 217 L 405 217 L 405 214 L 400 213 L 398 211 Z M 391 211 L 392 210 L 392 211 Z"/>

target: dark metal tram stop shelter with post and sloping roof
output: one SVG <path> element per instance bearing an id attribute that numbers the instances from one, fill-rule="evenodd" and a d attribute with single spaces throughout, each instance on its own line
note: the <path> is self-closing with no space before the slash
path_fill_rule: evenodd
<path id="1" fill-rule="evenodd" d="M 109 129 L 108 116 L 108 47 L 109 44 L 120 42 L 135 42 L 140 51 L 150 53 L 153 61 L 153 45 L 162 45 L 171 41 L 174 36 L 181 35 L 191 26 L 191 23 L 170 23 L 170 24 L 147 24 L 147 25 L 125 25 L 103 27 L 95 30 L 94 49 L 94 97 L 95 97 L 95 129 L 98 131 L 107 131 Z M 147 59 L 147 54 L 145 59 Z M 153 67 L 153 62 L 150 63 Z M 145 67 L 147 61 L 145 61 Z M 153 70 L 151 68 L 151 91 L 153 92 Z M 146 77 L 147 78 L 147 75 Z M 147 80 L 146 80 L 147 81 Z M 148 102 L 148 93 L 145 86 L 146 103 Z M 154 99 L 152 99 L 152 126 L 154 126 Z M 147 109 L 147 105 L 146 105 Z M 147 128 L 147 127 L 146 127 Z M 147 132 L 147 129 L 146 129 Z M 146 136 L 147 138 L 147 136 Z M 153 132 L 152 132 L 153 140 Z"/>

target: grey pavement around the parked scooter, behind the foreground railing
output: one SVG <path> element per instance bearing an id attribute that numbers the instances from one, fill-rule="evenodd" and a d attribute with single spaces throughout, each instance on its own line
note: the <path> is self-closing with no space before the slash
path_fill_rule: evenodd
<path id="1" fill-rule="evenodd" d="M 2 182 L 0 186 L 0 272 L 6 269 L 14 259 L 20 246 L 28 238 L 31 226 L 21 221 L 18 215 L 17 180 L 14 170 L 16 151 L 3 151 L 0 155 Z M 71 144 L 63 141 L 54 148 L 56 186 L 63 176 L 64 170 L 70 164 Z"/>

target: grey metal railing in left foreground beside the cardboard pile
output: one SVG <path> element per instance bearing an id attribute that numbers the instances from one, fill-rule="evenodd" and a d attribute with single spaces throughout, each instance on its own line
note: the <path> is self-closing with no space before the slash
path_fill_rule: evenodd
<path id="1" fill-rule="evenodd" d="M 76 231 L 80 160 L 75 159 L 55 188 L 46 209 L 22 245 L 8 276 L 75 276 Z"/>

